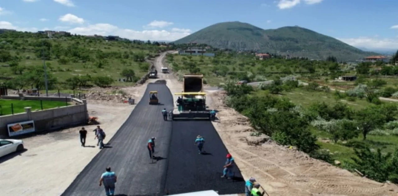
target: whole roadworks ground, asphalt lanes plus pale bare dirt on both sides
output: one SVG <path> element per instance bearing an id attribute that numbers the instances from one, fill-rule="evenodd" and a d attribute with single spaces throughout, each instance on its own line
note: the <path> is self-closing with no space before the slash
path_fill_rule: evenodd
<path id="1" fill-rule="evenodd" d="M 156 58 L 157 69 L 163 64 L 167 66 L 164 56 Z M 244 179 L 255 177 L 270 196 L 397 195 L 398 187 L 394 184 L 355 176 L 295 149 L 279 146 L 265 135 L 250 136 L 250 122 L 226 107 L 225 93 L 221 91 L 207 92 L 207 105 L 219 111 L 216 122 L 163 121 L 160 111 L 176 107 L 178 96 L 174 93 L 181 92 L 182 85 L 173 74 L 158 75 L 159 79 L 123 89 L 137 102 L 143 96 L 142 103 L 137 105 L 88 100 L 90 115 L 99 117 L 107 134 L 105 149 L 96 147 L 90 132 L 86 145 L 92 147 L 81 147 L 80 127 L 26 138 L 27 151 L 0 159 L 2 193 L 102 195 L 98 181 L 105 167 L 111 167 L 118 175 L 116 195 L 165 195 L 210 189 L 219 194 L 243 193 L 239 170 Z M 155 84 L 156 80 L 164 80 L 166 85 Z M 150 90 L 159 92 L 163 105 L 148 105 Z M 199 134 L 206 140 L 203 155 L 194 146 Z M 154 155 L 159 157 L 153 164 L 146 149 L 152 136 L 157 137 Z M 238 166 L 235 179 L 220 178 L 227 149 Z"/>

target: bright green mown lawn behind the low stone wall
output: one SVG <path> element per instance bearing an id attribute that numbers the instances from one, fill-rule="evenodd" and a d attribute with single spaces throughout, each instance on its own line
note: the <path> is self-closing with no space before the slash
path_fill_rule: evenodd
<path id="1" fill-rule="evenodd" d="M 64 101 L 42 101 L 43 109 L 51 109 L 55 107 L 62 107 L 69 105 Z M 12 106 L 11 106 L 12 105 Z M 12 114 L 12 107 L 14 108 L 14 114 L 24 113 L 25 107 L 32 107 L 32 111 L 41 110 L 41 103 L 39 100 L 7 100 L 0 99 L 0 115 Z"/>

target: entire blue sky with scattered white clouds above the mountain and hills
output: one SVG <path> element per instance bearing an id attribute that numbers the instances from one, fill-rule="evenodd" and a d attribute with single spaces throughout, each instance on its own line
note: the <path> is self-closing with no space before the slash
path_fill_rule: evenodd
<path id="1" fill-rule="evenodd" d="M 355 47 L 398 49 L 398 0 L 0 0 L 0 28 L 174 41 L 218 22 L 298 25 Z"/>

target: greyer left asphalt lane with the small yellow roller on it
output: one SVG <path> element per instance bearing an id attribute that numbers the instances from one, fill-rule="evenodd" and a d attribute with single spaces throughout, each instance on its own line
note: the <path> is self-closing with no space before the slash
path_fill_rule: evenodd
<path id="1" fill-rule="evenodd" d="M 149 91 L 158 91 L 159 102 L 164 105 L 148 105 Z M 98 184 L 106 167 L 111 167 L 118 177 L 116 195 L 163 195 L 167 159 L 152 164 L 146 144 L 152 136 L 156 137 L 154 155 L 167 158 L 172 122 L 164 121 L 161 111 L 172 107 L 173 97 L 166 85 L 148 84 L 141 101 L 107 148 L 94 157 L 62 195 L 105 195 L 103 186 Z M 94 134 L 90 136 L 94 138 Z"/>

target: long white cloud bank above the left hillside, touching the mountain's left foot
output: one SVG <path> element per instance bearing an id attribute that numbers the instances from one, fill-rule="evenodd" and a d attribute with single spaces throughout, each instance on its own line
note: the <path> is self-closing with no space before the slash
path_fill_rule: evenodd
<path id="1" fill-rule="evenodd" d="M 185 29 L 187 30 L 187 29 Z M 165 31 L 165 30 L 145 30 L 135 31 L 132 29 L 121 29 L 115 25 L 98 23 L 95 25 L 88 25 L 86 27 L 76 27 L 70 29 L 68 32 L 78 35 L 117 35 L 127 39 L 139 40 L 167 40 L 175 41 L 182 37 L 189 35 L 188 32 L 179 31 Z"/>

